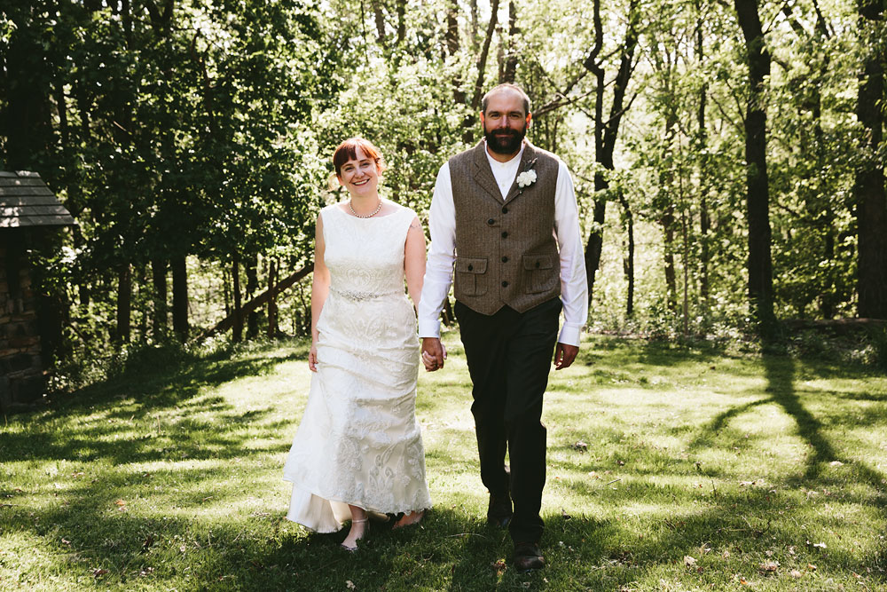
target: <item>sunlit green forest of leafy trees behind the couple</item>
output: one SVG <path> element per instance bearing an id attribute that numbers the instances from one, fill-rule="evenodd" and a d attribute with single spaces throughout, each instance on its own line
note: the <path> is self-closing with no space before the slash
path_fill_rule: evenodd
<path id="1" fill-rule="evenodd" d="M 885 10 L 7 1 L 0 170 L 39 172 L 78 222 L 27 245 L 56 386 L 158 343 L 307 335 L 334 146 L 380 146 L 384 195 L 427 223 L 501 82 L 573 172 L 590 329 L 787 343 L 799 320 L 885 320 Z M 887 363 L 883 330 L 861 339 Z"/>

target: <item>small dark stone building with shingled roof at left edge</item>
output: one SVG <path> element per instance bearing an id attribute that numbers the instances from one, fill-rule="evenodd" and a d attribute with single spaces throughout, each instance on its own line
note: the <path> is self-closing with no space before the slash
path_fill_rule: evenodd
<path id="1" fill-rule="evenodd" d="M 28 246 L 74 224 L 39 175 L 0 172 L 0 413 L 29 407 L 45 389 Z"/>

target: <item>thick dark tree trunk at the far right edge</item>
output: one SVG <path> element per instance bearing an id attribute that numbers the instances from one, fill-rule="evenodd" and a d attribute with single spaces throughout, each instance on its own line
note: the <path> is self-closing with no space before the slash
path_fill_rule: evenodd
<path id="1" fill-rule="evenodd" d="M 860 0 L 859 12 L 860 31 L 870 36 L 867 29 L 872 28 L 874 21 L 883 19 L 883 3 Z M 883 162 L 877 156 L 883 149 L 884 55 L 879 43 L 863 46 L 867 48 L 867 55 L 860 73 L 856 116 L 865 128 L 861 147 L 866 158 L 856 172 L 853 185 L 859 234 L 858 312 L 860 317 L 887 319 L 887 198 Z"/>

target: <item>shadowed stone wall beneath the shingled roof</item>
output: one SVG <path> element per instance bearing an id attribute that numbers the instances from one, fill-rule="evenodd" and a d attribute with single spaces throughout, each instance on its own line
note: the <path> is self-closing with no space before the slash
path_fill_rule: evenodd
<path id="1" fill-rule="evenodd" d="M 7 231 L 9 232 L 9 231 Z M 18 233 L 0 235 L 0 412 L 27 409 L 43 397 L 40 333 L 26 252 Z"/>

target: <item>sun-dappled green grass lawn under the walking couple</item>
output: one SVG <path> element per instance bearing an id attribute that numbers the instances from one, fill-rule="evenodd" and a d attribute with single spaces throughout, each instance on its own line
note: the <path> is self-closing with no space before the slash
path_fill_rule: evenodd
<path id="1" fill-rule="evenodd" d="M 546 400 L 549 567 L 483 520 L 458 335 L 423 374 L 435 506 L 420 527 L 287 522 L 305 343 L 158 356 L 6 418 L 0 590 L 887 588 L 887 378 L 592 337 Z M 583 446 L 575 446 L 577 443 Z"/>

